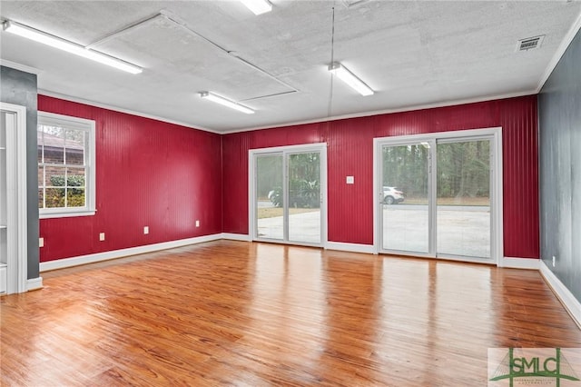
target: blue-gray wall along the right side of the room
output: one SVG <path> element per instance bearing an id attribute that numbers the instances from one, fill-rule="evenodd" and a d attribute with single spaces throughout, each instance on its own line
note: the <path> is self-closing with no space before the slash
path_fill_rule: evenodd
<path id="1" fill-rule="evenodd" d="M 581 32 L 543 86 L 538 114 L 541 259 L 581 302 Z"/>

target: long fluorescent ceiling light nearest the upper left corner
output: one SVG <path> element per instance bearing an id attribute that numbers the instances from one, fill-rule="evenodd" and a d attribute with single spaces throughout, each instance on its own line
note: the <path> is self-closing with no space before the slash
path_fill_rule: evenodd
<path id="1" fill-rule="evenodd" d="M 83 56 L 84 58 L 91 59 L 103 65 L 110 65 L 116 69 L 126 71 L 127 73 L 139 74 L 143 71 L 141 67 L 124 62 L 121 59 L 113 58 L 113 56 L 104 55 L 98 51 L 84 48 L 83 45 L 77 45 L 58 36 L 46 34 L 32 27 L 21 25 L 11 20 L 5 21 L 3 23 L 3 28 L 5 32 L 23 36 L 27 39 L 34 40 L 35 42 L 42 43 L 43 45 L 50 45 L 51 47 L 66 51 L 67 53 Z"/>

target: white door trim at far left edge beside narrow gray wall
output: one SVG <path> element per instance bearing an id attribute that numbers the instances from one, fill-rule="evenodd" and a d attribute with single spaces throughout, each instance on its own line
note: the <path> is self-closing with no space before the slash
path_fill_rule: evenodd
<path id="1" fill-rule="evenodd" d="M 0 103 L 0 110 L 15 114 L 12 125 L 6 124 L 6 223 L 8 225 L 6 257 L 6 293 L 26 292 L 28 269 L 28 231 L 26 217 L 26 107 Z M 10 146 L 13 144 L 15 146 Z"/>

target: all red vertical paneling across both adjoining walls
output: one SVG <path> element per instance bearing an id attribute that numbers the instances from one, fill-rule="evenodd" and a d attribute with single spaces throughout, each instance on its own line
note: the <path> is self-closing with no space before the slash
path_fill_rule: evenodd
<path id="1" fill-rule="evenodd" d="M 491 126 L 503 127 L 505 255 L 539 254 L 536 96 L 223 136 L 46 96 L 39 110 L 97 122 L 97 214 L 42 220 L 41 262 L 248 233 L 248 151 L 291 144 L 328 144 L 329 240 L 371 244 L 374 137 Z"/>

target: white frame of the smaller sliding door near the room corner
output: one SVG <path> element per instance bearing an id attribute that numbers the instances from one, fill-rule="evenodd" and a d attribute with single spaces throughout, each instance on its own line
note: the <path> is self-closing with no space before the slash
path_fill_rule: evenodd
<path id="1" fill-rule="evenodd" d="M 327 246 L 327 143 L 299 144 L 287 146 L 275 146 L 271 148 L 258 148 L 248 151 L 248 230 L 251 241 L 260 241 L 257 238 L 257 219 L 256 219 L 256 156 L 261 154 L 286 154 L 295 153 L 320 153 L 320 243 L 297 243 L 295 241 L 278 241 L 268 240 L 274 243 L 286 244 L 304 244 L 307 246 L 318 246 L 326 248 Z M 285 184 L 286 185 L 286 184 Z"/>

